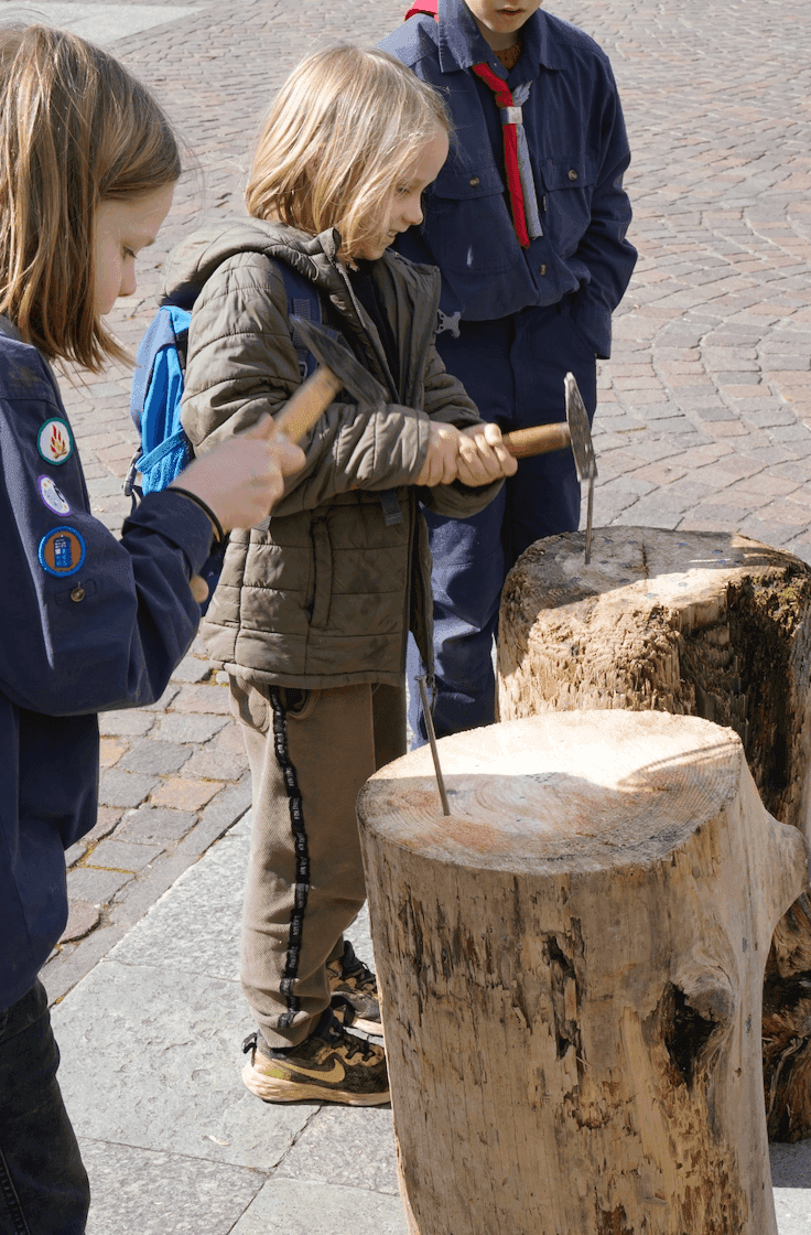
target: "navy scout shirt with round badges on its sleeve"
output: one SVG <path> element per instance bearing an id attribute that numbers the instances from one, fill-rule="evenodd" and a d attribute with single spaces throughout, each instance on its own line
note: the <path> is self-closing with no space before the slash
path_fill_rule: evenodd
<path id="1" fill-rule="evenodd" d="M 95 713 L 163 692 L 200 620 L 189 577 L 211 524 L 162 493 L 117 542 L 90 515 L 51 369 L 5 319 L 0 331 L 2 1010 L 31 989 L 64 929 L 64 850 L 96 819 Z"/>

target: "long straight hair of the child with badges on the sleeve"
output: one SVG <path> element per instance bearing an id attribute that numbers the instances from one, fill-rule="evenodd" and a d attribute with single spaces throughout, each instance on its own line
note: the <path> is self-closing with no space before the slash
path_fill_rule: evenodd
<path id="1" fill-rule="evenodd" d="M 0 30 L 0 312 L 51 359 L 126 353 L 95 310 L 99 204 L 173 184 L 180 154 L 117 61 L 47 26 Z"/>

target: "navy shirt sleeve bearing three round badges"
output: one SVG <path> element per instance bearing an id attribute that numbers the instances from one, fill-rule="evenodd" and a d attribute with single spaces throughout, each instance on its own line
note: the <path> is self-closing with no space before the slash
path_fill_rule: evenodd
<path id="1" fill-rule="evenodd" d="M 194 638 L 189 578 L 211 543 L 206 515 L 154 494 L 121 541 L 89 511 L 73 431 L 43 362 L 0 361 L 0 689 L 53 716 L 154 701 Z"/>

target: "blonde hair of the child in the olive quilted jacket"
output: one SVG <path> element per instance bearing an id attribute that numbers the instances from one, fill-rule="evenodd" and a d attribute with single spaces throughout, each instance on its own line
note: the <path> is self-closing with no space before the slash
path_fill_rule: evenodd
<path id="1" fill-rule="evenodd" d="M 337 44 L 304 59 L 262 128 L 246 201 L 257 219 L 341 233 L 344 257 L 376 241 L 386 194 L 437 128 L 439 94 L 388 52 Z"/>

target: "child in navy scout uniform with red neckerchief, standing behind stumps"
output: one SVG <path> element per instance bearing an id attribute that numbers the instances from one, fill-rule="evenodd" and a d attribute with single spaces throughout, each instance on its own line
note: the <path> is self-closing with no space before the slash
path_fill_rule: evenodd
<path id="1" fill-rule="evenodd" d="M 596 404 L 595 357 L 636 251 L 625 238 L 628 142 L 607 57 L 541 0 L 436 0 L 380 44 L 447 100 L 451 157 L 401 253 L 442 274 L 437 350 L 502 430 L 565 419 L 572 371 Z M 432 7 L 433 5 L 433 7 Z M 480 515 L 427 515 L 438 734 L 494 719 L 493 636 L 506 573 L 542 536 L 574 531 L 570 451 L 525 459 Z M 418 658 L 411 648 L 410 678 Z M 425 740 L 412 692 L 411 720 Z"/>

